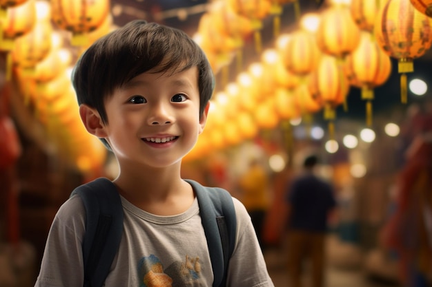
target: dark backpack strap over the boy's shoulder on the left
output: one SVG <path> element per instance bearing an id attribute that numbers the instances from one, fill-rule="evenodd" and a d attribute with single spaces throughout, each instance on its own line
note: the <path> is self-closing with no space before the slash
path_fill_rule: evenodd
<path id="1" fill-rule="evenodd" d="M 115 185 L 97 178 L 72 191 L 86 208 L 86 233 L 82 248 L 84 286 L 100 287 L 110 272 L 123 234 L 123 206 Z"/>

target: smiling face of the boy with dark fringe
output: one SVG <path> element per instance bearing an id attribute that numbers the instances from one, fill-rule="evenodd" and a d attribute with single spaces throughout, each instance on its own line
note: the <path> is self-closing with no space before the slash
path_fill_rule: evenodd
<path id="1" fill-rule="evenodd" d="M 116 89 L 105 108 L 109 124 L 99 137 L 108 140 L 120 163 L 149 167 L 179 162 L 202 133 L 208 111 L 199 117 L 197 67 L 141 74 Z"/>

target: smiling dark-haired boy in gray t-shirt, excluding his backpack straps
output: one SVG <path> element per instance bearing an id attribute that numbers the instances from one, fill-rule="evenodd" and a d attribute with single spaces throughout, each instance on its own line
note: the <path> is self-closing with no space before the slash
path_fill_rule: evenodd
<path id="1" fill-rule="evenodd" d="M 180 167 L 206 124 L 213 81 L 206 56 L 184 32 L 146 21 L 111 32 L 79 59 L 72 75 L 79 114 L 119 164 L 113 183 L 124 231 L 105 286 L 212 286 L 201 206 Z M 273 286 L 250 217 L 233 203 L 226 286 Z M 85 222 L 84 204 L 72 196 L 52 223 L 36 286 L 83 286 Z M 179 267 L 192 263 L 194 277 Z"/>

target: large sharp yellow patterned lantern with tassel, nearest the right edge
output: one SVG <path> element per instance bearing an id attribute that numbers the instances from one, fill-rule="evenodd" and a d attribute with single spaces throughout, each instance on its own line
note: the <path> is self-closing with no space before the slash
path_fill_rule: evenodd
<path id="1" fill-rule="evenodd" d="M 398 61 L 401 101 L 406 103 L 406 73 L 414 71 L 413 59 L 431 47 L 431 19 L 415 9 L 409 0 L 389 0 L 378 13 L 374 32 L 382 50 Z"/>

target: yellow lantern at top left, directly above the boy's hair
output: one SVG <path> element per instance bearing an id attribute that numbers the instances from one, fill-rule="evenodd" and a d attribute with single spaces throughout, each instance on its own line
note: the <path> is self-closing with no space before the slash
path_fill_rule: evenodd
<path id="1" fill-rule="evenodd" d="M 110 13 L 109 0 L 51 0 L 51 19 L 62 30 L 72 33 L 71 44 L 88 44 L 88 33 L 96 30 Z"/>

